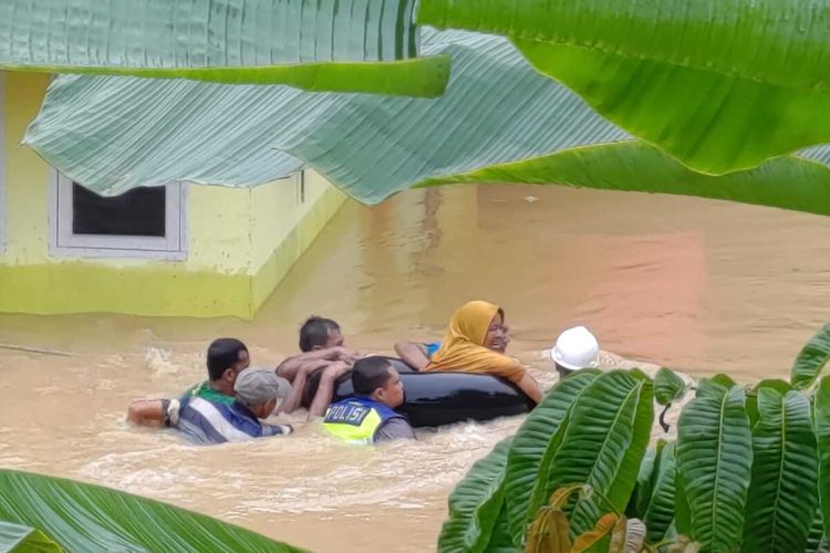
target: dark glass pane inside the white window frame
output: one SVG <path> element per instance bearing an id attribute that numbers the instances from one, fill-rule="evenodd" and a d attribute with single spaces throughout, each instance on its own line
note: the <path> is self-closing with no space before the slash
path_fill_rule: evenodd
<path id="1" fill-rule="evenodd" d="M 163 186 L 155 186 L 104 197 L 73 182 L 72 232 L 164 238 L 165 194 Z"/>

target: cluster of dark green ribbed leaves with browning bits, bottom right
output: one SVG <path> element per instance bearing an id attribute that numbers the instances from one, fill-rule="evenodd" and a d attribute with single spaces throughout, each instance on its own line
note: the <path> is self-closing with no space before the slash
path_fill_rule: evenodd
<path id="1" fill-rule="evenodd" d="M 652 404 L 686 388 L 675 375 L 563 379 L 499 449 L 502 503 L 475 551 L 830 551 L 827 328 L 799 354 L 791 382 L 702 378 L 676 442 L 649 451 Z M 448 522 L 439 551 L 471 551 L 443 546 L 460 531 L 469 531 L 461 519 Z"/>

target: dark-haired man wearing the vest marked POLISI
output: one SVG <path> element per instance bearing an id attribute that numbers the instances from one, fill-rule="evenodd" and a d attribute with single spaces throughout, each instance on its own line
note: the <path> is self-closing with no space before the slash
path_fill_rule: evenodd
<path id="1" fill-rule="evenodd" d="M 395 410 L 404 403 L 397 371 L 383 357 L 365 357 L 352 369 L 354 397 L 329 406 L 323 426 L 352 444 L 414 439 L 409 421 Z"/>

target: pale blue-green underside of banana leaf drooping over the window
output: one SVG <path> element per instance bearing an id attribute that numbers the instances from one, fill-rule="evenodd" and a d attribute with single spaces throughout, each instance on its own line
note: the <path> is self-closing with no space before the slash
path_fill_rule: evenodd
<path id="1" fill-rule="evenodd" d="M 430 176 L 627 136 L 501 38 L 424 30 L 422 51 L 453 58 L 437 100 L 62 76 L 25 142 L 98 194 L 178 179 L 252 186 L 305 161 L 377 202 Z"/>

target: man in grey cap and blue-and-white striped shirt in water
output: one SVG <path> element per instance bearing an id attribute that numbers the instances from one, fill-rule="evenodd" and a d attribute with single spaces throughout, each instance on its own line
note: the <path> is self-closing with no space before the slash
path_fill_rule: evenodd
<path id="1" fill-rule="evenodd" d="M 167 410 L 170 426 L 197 444 L 245 441 L 266 436 L 286 436 L 293 429 L 269 425 L 268 418 L 280 400 L 291 393 L 291 385 L 272 371 L 246 368 L 234 384 L 232 404 L 218 404 L 198 396 L 172 400 Z"/>

